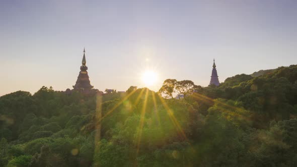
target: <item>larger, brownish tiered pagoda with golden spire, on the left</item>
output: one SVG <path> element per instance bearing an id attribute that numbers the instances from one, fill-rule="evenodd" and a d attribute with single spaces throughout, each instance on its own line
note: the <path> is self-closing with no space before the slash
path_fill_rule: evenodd
<path id="1" fill-rule="evenodd" d="M 73 86 L 74 90 L 83 92 L 83 93 L 90 93 L 91 90 L 93 89 L 93 86 L 90 84 L 90 79 L 88 75 L 88 67 L 86 66 L 86 55 L 85 55 L 85 48 L 84 48 L 84 56 L 82 60 L 82 66 L 81 66 L 81 71 L 78 76 L 78 80 L 76 82 L 76 85 Z"/>

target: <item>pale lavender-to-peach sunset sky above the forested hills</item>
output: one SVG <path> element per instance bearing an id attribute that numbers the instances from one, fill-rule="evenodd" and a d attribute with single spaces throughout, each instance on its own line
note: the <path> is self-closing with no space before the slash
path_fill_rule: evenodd
<path id="1" fill-rule="evenodd" d="M 167 78 L 209 84 L 296 64 L 297 1 L 0 0 L 0 96 L 64 91 L 86 48 L 91 85 L 158 91 Z M 147 86 L 141 76 L 154 71 Z"/>

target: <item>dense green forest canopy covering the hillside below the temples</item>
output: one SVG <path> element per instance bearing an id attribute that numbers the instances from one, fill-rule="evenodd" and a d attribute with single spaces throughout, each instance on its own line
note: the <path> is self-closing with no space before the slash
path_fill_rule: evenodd
<path id="1" fill-rule="evenodd" d="M 297 166 L 296 116 L 297 65 L 157 93 L 18 91 L 0 97 L 0 166 Z"/>

